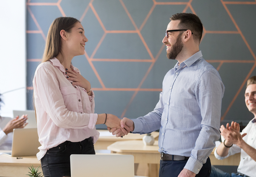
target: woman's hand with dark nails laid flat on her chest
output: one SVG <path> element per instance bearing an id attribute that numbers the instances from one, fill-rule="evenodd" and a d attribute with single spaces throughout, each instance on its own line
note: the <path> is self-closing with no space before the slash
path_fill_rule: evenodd
<path id="1" fill-rule="evenodd" d="M 67 79 L 71 81 L 72 85 L 78 85 L 83 87 L 87 92 L 91 89 L 91 84 L 88 80 L 86 80 L 81 74 L 79 74 L 74 69 L 67 70 L 66 69 Z"/>

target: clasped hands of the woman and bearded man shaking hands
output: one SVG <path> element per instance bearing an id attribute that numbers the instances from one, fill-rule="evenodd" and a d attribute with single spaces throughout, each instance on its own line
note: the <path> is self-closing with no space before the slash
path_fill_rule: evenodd
<path id="1" fill-rule="evenodd" d="M 131 119 L 123 118 L 119 119 L 117 116 L 112 114 L 99 114 L 97 122 L 101 124 L 105 122 L 107 129 L 116 137 L 123 137 L 134 131 L 134 123 Z M 96 123 L 97 124 L 97 123 Z"/>

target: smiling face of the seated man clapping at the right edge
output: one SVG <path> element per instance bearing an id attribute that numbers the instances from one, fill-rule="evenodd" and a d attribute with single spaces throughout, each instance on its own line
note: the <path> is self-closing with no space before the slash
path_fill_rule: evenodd
<path id="1" fill-rule="evenodd" d="M 256 117 L 256 84 L 248 85 L 244 95 L 248 110 Z"/>

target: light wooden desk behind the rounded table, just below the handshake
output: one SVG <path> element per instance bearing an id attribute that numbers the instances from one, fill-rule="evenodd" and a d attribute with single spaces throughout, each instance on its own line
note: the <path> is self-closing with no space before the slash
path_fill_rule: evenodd
<path id="1" fill-rule="evenodd" d="M 100 133 L 107 133 L 108 130 L 98 130 Z M 159 132 L 152 132 L 151 135 L 158 141 Z M 107 149 L 107 147 L 113 144 L 116 141 L 128 141 L 128 140 L 142 140 L 145 134 L 132 134 L 129 133 L 125 135 L 123 138 L 115 137 L 115 136 L 100 136 L 97 142 L 94 144 L 94 149 Z"/>

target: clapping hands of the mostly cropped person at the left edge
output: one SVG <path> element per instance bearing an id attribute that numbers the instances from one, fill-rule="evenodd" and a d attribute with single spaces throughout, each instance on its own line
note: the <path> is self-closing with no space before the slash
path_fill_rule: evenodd
<path id="1" fill-rule="evenodd" d="M 3 132 L 7 135 L 8 133 L 12 132 L 13 129 L 23 128 L 28 123 L 26 123 L 27 115 L 22 115 L 20 118 L 16 116 L 16 118 L 10 120 L 6 126 L 3 128 Z"/>

